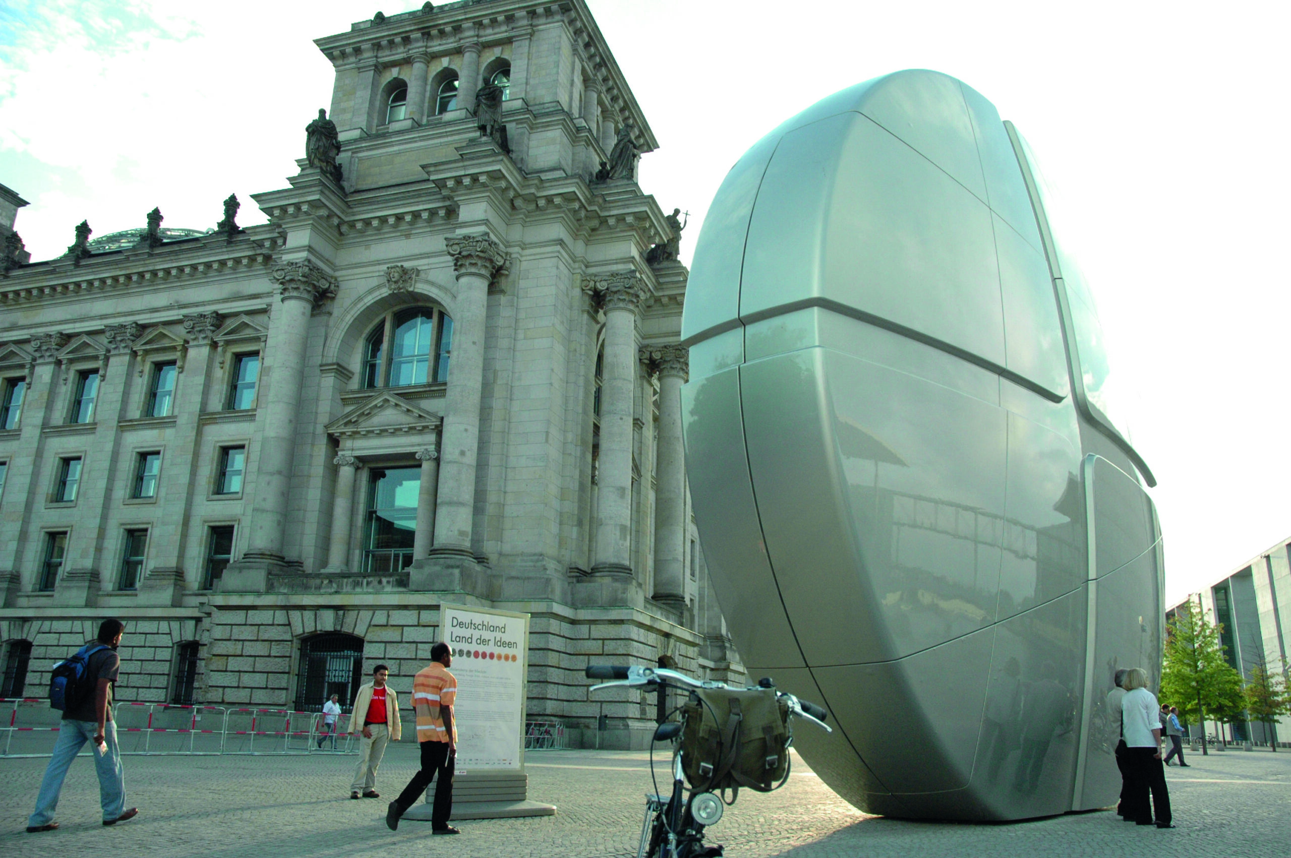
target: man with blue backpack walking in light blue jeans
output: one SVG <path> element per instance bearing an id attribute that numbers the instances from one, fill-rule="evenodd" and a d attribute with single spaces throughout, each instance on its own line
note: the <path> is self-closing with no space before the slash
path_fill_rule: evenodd
<path id="1" fill-rule="evenodd" d="M 36 796 L 36 810 L 27 819 L 27 831 L 53 831 L 58 793 L 72 760 L 85 742 L 94 743 L 94 766 L 98 770 L 98 791 L 103 805 L 103 824 L 115 826 L 138 815 L 138 808 L 125 809 L 125 779 L 121 772 L 121 752 L 116 746 L 116 725 L 112 723 L 112 683 L 121 670 L 116 648 L 121 643 L 125 624 L 119 619 L 105 619 L 98 627 L 98 639 L 81 646 L 75 655 L 54 664 L 49 684 L 49 702 L 63 711 L 58 728 L 54 753 L 45 768 L 45 778 Z"/>

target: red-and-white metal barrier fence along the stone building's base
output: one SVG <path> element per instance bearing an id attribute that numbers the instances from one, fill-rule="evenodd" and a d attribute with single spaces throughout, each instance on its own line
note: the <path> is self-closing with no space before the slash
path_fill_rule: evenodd
<path id="1" fill-rule="evenodd" d="M 121 753 L 315 753 L 354 750 L 350 716 L 324 729 L 320 712 L 121 702 L 112 708 Z M 39 698 L 0 699 L 0 756 L 49 756 L 62 712 Z"/>

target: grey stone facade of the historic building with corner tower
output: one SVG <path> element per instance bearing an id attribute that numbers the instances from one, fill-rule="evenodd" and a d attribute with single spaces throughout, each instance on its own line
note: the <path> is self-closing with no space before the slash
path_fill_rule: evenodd
<path id="1" fill-rule="evenodd" d="M 314 706 L 319 635 L 408 690 L 442 600 L 496 605 L 533 617 L 531 719 L 640 743 L 652 703 L 589 701 L 589 661 L 742 677 L 680 450 L 687 270 L 644 261 L 653 197 L 593 178 L 626 125 L 653 150 L 649 125 L 581 0 L 316 44 L 340 183 L 301 160 L 254 195 L 266 224 L 0 281 L 6 653 L 32 644 L 39 692 L 116 615 L 121 699 L 173 697 L 196 641 L 199 702 Z M 509 86 L 509 154 L 469 110 L 482 81 Z"/>

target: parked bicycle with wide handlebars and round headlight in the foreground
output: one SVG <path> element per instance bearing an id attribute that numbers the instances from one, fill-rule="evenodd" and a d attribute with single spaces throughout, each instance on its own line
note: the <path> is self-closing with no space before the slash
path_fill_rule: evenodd
<path id="1" fill-rule="evenodd" d="M 732 692 L 758 692 L 758 690 L 775 690 L 775 684 L 769 679 L 763 679 L 758 685 L 750 685 L 745 688 L 736 689 L 733 686 L 726 685 L 724 683 L 714 683 L 710 680 L 696 680 L 686 673 L 680 673 L 674 670 L 661 668 L 661 667 L 626 667 L 618 664 L 591 664 L 586 668 L 585 675 L 587 679 L 603 679 L 609 680 L 591 686 L 591 692 L 598 692 L 604 688 L 612 688 L 617 685 L 626 685 L 630 688 L 678 688 L 687 689 L 689 692 L 688 702 L 693 703 L 700 701 L 704 707 L 707 707 L 709 712 L 713 712 L 711 706 L 702 701 L 696 693 L 698 690 L 732 690 Z M 789 760 L 788 751 L 789 746 L 793 744 L 793 730 L 789 724 L 794 717 L 803 717 L 808 721 L 824 728 L 826 732 L 833 733 L 833 729 L 825 724 L 828 712 L 815 703 L 799 699 L 793 694 L 786 692 L 775 692 L 777 704 L 785 704 L 784 708 L 788 710 L 785 719 L 785 728 L 788 730 L 788 739 L 784 744 L 785 748 L 785 773 L 780 783 L 769 787 L 778 788 L 789 779 Z M 680 708 L 680 707 L 678 707 Z M 695 707 L 692 707 L 693 711 Z M 674 710 L 675 712 L 676 710 Z M 702 710 L 700 710 L 702 711 Z M 655 742 L 671 742 L 678 737 L 683 735 L 683 730 L 687 729 L 687 717 L 683 716 L 680 721 L 664 721 L 655 729 Z M 714 719 L 715 719 L 714 713 Z M 736 738 L 738 733 L 733 733 Z M 735 759 L 738 752 L 738 746 L 729 750 L 726 756 L 728 759 Z M 673 791 L 670 795 L 657 795 L 649 793 L 646 796 L 646 817 L 642 821 L 642 833 L 636 845 L 636 858 L 714 858 L 722 855 L 722 845 L 705 846 L 704 845 L 704 830 L 709 826 L 715 824 L 722 819 L 722 814 L 726 806 L 735 804 L 735 799 L 738 795 L 738 786 L 735 786 L 735 795 L 729 803 L 727 803 L 722 795 L 726 787 L 722 787 L 718 792 L 711 792 L 709 788 L 696 790 L 695 784 L 689 784 L 689 796 L 687 796 L 687 783 L 689 781 L 686 773 L 684 765 L 686 742 L 676 744 L 673 752 Z M 702 756 L 698 757 L 702 760 Z M 771 765 L 771 759 L 768 757 L 768 765 Z M 778 760 L 777 760 L 778 763 Z M 707 766 L 707 764 L 704 764 Z M 701 772 L 704 768 L 700 769 Z M 707 766 L 707 773 L 713 774 L 711 766 Z M 719 773 L 720 774 L 720 773 Z M 655 777 L 655 746 L 651 743 L 651 778 Z M 656 784 L 656 791 L 658 786 Z M 753 787 L 759 791 L 760 787 Z"/>

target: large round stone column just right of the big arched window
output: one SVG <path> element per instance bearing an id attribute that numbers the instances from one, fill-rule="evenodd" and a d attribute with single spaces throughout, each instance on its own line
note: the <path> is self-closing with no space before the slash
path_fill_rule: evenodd
<path id="1" fill-rule="evenodd" d="M 484 388 L 484 316 L 489 283 L 505 257 L 502 248 L 484 234 L 451 236 L 444 243 L 457 272 L 457 307 L 439 450 L 442 479 L 435 502 L 435 546 L 430 556 L 474 557 L 471 519 L 475 515 L 475 458 Z"/>

